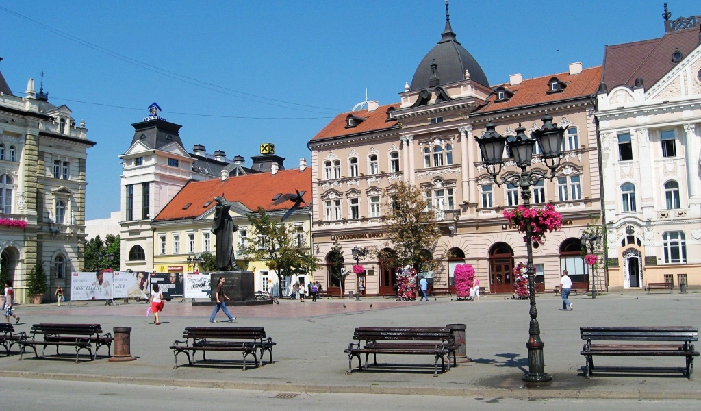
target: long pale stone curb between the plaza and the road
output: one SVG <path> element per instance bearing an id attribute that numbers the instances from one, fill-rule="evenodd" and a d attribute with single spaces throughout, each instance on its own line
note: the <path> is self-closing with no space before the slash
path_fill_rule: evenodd
<path id="1" fill-rule="evenodd" d="M 547 389 L 447 389 L 397 386 L 350 386 L 350 385 L 305 385 L 305 384 L 264 384 L 247 382 L 222 382 L 220 380 L 184 380 L 168 378 L 119 377 L 112 375 L 62 374 L 55 372 L 3 371 L 0 377 L 25 379 L 52 379 L 55 381 L 107 382 L 111 384 L 138 384 L 153 386 L 174 386 L 209 389 L 240 389 L 256 391 L 309 392 L 309 393 L 358 393 L 396 394 L 397 390 L 407 390 L 404 395 L 418 396 L 458 396 L 515 399 L 595 399 L 595 400 L 701 400 L 701 392 L 668 391 L 583 391 Z"/>

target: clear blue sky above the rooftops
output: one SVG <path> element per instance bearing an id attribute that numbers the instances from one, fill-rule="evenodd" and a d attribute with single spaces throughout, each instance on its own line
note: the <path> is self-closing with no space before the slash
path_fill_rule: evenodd
<path id="1" fill-rule="evenodd" d="M 701 15 L 669 0 L 672 18 Z M 451 25 L 491 84 L 602 64 L 604 46 L 664 34 L 663 1 L 452 0 Z M 399 101 L 440 40 L 444 0 L 0 2 L 0 71 L 16 95 L 41 71 L 49 102 L 85 120 L 88 219 L 119 210 L 131 124 L 158 102 L 185 148 L 296 168 L 336 114 Z"/>

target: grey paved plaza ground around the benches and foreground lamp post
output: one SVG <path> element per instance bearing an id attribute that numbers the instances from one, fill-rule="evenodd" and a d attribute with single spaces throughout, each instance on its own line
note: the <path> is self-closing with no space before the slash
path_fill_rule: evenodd
<path id="1" fill-rule="evenodd" d="M 226 326 L 263 326 L 277 342 L 273 364 L 242 372 L 240 353 L 212 353 L 210 358 L 226 362 L 187 365 L 173 369 L 168 346 L 182 339 L 186 326 L 210 325 L 211 307 L 193 307 L 189 302 L 165 304 L 161 325 L 145 316 L 146 304 L 131 302 L 112 306 L 99 302 L 77 302 L 18 306 L 21 317 L 15 330 L 29 331 L 34 323 L 100 323 L 104 330 L 132 327 L 131 353 L 137 361 L 107 361 L 101 349 L 97 361 L 74 363 L 74 352 L 62 349 L 60 358 L 36 359 L 28 353 L 0 357 L 0 377 L 26 377 L 77 381 L 122 382 L 168 386 L 205 386 L 228 389 L 263 389 L 284 392 L 413 393 L 451 396 L 502 396 L 514 398 L 688 398 L 701 399 L 697 378 L 689 381 L 670 375 L 582 376 L 584 358 L 582 325 L 699 325 L 701 295 L 653 294 L 601 295 L 591 299 L 571 296 L 573 311 L 562 311 L 562 299 L 552 294 L 538 297 L 538 320 L 545 342 L 545 371 L 550 384 L 524 386 L 521 375 L 528 368 L 529 302 L 505 296 L 483 297 L 481 302 L 458 302 L 439 297 L 430 302 L 395 302 L 381 297 L 322 299 L 302 303 L 281 300 L 279 305 L 231 306 L 236 316 Z M 345 304 L 345 307 L 343 306 Z M 226 319 L 218 314 L 218 319 Z M 433 357 L 379 356 L 388 367 L 370 368 L 347 375 L 348 356 L 343 349 L 352 341 L 358 326 L 467 325 L 467 354 L 472 362 L 458 363 L 451 371 L 433 377 Z M 102 351 L 104 350 L 104 351 Z M 697 347 L 698 350 L 698 347 Z M 15 352 L 16 346 L 15 346 Z M 83 351 L 85 352 L 85 351 Z M 55 353 L 48 348 L 47 353 Z M 72 355 L 73 354 L 73 355 Z M 197 354 L 201 358 L 201 354 Z M 266 356 L 267 361 L 267 356 Z M 678 366 L 683 358 L 595 358 L 594 365 Z M 389 364 L 391 363 L 391 364 Z M 392 364 L 402 363 L 393 367 Z M 184 364 L 184 365 L 182 365 Z M 407 365 L 413 365 L 411 367 Z M 354 361 L 357 367 L 357 361 Z"/>

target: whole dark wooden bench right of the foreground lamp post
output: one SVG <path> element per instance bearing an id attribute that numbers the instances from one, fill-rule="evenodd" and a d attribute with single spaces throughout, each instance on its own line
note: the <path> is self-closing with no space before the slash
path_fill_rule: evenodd
<path id="1" fill-rule="evenodd" d="M 682 372 L 688 379 L 694 377 L 693 361 L 694 357 L 699 355 L 694 351 L 692 344 L 698 340 L 698 331 L 695 327 L 580 327 L 580 334 L 585 340 L 581 354 L 585 356 L 584 376 L 586 378 L 589 378 L 594 371 L 593 356 L 686 357 L 686 368 Z M 635 343 L 592 344 L 592 341 Z"/>

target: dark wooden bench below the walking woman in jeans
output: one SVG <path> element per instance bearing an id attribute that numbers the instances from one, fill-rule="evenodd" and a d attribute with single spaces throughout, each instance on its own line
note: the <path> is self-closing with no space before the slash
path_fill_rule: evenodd
<path id="1" fill-rule="evenodd" d="M 256 367 L 263 365 L 263 354 L 268 351 L 270 363 L 273 362 L 273 339 L 266 337 L 262 327 L 187 327 L 182 337 L 184 341 L 175 340 L 170 346 L 175 356 L 185 353 L 190 365 L 193 365 L 195 351 L 202 351 L 202 360 L 207 361 L 207 351 L 238 351 L 243 353 L 243 371 L 246 370 L 246 358 L 252 355 Z M 190 351 L 193 351 L 190 356 Z M 260 361 L 257 351 L 260 351 Z"/>

